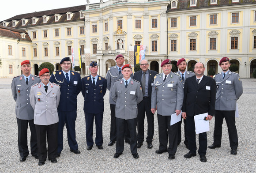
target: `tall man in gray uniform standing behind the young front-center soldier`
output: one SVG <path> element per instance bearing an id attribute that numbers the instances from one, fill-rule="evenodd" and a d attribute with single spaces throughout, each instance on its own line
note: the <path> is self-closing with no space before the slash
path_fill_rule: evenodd
<path id="1" fill-rule="evenodd" d="M 110 123 L 110 142 L 108 143 L 109 146 L 112 146 L 116 140 L 117 140 L 117 125 L 116 125 L 116 116 L 115 116 L 115 107 L 116 103 L 113 101 L 111 97 L 111 91 L 113 89 L 113 85 L 116 80 L 122 79 L 123 74 L 121 73 L 121 69 L 123 68 L 124 65 L 124 56 L 122 54 L 119 54 L 116 56 L 116 63 L 117 65 L 109 68 L 107 74 L 106 74 L 106 79 L 107 79 L 107 89 L 109 90 L 109 104 L 110 104 L 110 116 L 111 116 L 111 123 Z M 131 78 L 133 78 L 133 74 L 131 75 Z M 127 126 L 127 124 L 125 124 Z M 125 129 L 125 142 L 129 143 L 129 134 L 128 134 L 128 129 Z"/>

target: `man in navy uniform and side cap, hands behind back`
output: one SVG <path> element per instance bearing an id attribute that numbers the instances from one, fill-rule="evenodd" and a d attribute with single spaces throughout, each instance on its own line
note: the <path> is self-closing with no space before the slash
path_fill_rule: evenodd
<path id="1" fill-rule="evenodd" d="M 82 94 L 84 97 L 83 111 L 86 124 L 87 150 L 91 150 L 93 142 L 93 124 L 95 118 L 96 138 L 95 144 L 98 149 L 103 149 L 102 120 L 104 111 L 104 95 L 107 90 L 107 80 L 97 75 L 98 64 L 90 63 L 90 75 L 82 79 Z"/>

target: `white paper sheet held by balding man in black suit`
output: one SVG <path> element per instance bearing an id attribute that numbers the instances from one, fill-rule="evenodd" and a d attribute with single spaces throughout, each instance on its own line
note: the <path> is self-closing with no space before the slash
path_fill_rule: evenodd
<path id="1" fill-rule="evenodd" d="M 202 113 L 194 116 L 196 134 L 208 132 L 210 130 L 209 121 L 203 120 L 203 118 L 207 116 L 208 116 L 208 113 Z"/>

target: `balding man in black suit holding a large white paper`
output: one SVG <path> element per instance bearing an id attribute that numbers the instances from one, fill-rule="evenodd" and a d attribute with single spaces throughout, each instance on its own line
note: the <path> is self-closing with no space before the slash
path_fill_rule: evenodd
<path id="1" fill-rule="evenodd" d="M 184 158 L 196 156 L 196 132 L 194 116 L 202 113 L 208 113 L 207 120 L 211 120 L 215 113 L 215 80 L 203 75 L 204 65 L 201 62 L 195 64 L 195 76 L 186 79 L 184 85 L 184 100 L 182 106 L 182 117 L 187 120 L 187 138 L 189 152 Z M 199 134 L 199 149 L 201 162 L 207 162 L 207 134 Z"/>

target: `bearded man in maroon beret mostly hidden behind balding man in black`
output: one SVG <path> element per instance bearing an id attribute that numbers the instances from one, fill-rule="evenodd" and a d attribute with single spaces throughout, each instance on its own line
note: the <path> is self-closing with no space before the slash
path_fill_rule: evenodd
<path id="1" fill-rule="evenodd" d="M 181 58 L 178 60 L 177 62 L 177 66 L 179 68 L 179 71 L 175 72 L 180 76 L 180 81 L 183 85 L 183 88 L 184 88 L 184 83 L 185 83 L 185 80 L 189 77 L 192 77 L 193 75 L 195 75 L 194 72 L 192 71 L 187 71 L 186 68 L 187 68 L 187 62 L 184 58 Z M 181 143 L 181 123 L 182 123 L 182 117 L 181 117 L 181 121 L 178 122 L 178 145 Z M 184 144 L 186 145 L 186 147 L 188 148 L 188 139 L 187 139 L 187 136 L 186 136 L 186 120 L 183 119 L 183 122 L 184 122 Z"/>

